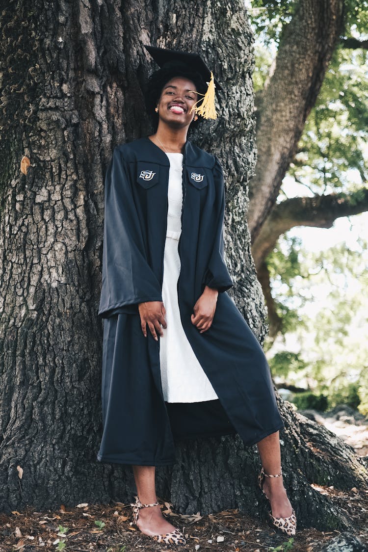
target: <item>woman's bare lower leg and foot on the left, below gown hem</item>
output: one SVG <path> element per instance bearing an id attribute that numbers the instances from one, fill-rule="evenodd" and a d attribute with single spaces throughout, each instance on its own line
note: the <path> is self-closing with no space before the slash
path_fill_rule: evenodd
<path id="1" fill-rule="evenodd" d="M 132 466 L 137 495 L 142 504 L 157 502 L 154 476 L 155 466 Z M 146 535 L 171 533 L 176 527 L 165 519 L 159 506 L 140 508 L 137 527 Z"/>

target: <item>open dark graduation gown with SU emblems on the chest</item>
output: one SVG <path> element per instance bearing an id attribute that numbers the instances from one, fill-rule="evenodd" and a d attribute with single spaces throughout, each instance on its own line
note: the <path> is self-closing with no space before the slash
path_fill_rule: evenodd
<path id="1" fill-rule="evenodd" d="M 178 300 L 183 329 L 216 401 L 164 401 L 159 342 L 138 303 L 162 301 L 170 163 L 148 137 L 116 146 L 105 178 L 102 292 L 103 436 L 99 461 L 175 463 L 175 439 L 239 433 L 252 445 L 284 427 L 262 347 L 226 290 L 225 188 L 217 157 L 186 141 Z M 212 325 L 191 322 L 205 285 L 218 289 Z M 183 418 L 184 415 L 184 418 Z M 212 423 L 212 425 L 211 425 Z"/>

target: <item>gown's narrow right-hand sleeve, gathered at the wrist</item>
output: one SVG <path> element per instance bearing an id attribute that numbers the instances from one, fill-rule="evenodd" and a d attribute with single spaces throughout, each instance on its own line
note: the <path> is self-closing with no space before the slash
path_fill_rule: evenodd
<path id="1" fill-rule="evenodd" d="M 214 172 L 216 190 L 219 191 L 220 197 L 217 201 L 217 221 L 214 246 L 212 248 L 203 284 L 209 286 L 209 288 L 217 289 L 218 293 L 222 293 L 223 291 L 232 288 L 234 283 L 224 260 L 225 246 L 223 241 L 223 219 L 225 216 L 225 185 L 223 183 L 223 173 L 220 161 L 218 161 L 216 156 L 215 160 L 216 163 L 212 171 Z"/>

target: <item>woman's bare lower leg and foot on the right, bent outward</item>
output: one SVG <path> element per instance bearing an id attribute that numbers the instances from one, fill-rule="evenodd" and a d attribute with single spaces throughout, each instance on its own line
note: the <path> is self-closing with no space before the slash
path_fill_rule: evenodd
<path id="1" fill-rule="evenodd" d="M 279 432 L 271 433 L 257 443 L 258 452 L 266 474 L 279 474 L 281 471 L 281 454 Z M 289 517 L 292 506 L 287 498 L 281 477 L 265 477 L 263 489 L 271 502 L 272 515 Z"/>

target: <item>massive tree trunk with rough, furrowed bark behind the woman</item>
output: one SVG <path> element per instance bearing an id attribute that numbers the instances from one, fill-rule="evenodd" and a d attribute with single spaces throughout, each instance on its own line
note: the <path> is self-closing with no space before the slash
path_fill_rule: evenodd
<path id="1" fill-rule="evenodd" d="M 255 162 L 247 15 L 240 0 L 20 0 L 0 18 L 0 508 L 130 501 L 130 466 L 96 460 L 104 171 L 116 144 L 150 130 L 141 85 L 153 67 L 142 43 L 201 51 L 225 93 L 221 118 L 193 140 L 225 168 L 233 296 L 263 342 L 265 308 L 244 222 Z M 285 484 L 300 526 L 348 526 L 310 483 L 366 485 L 363 465 L 279 401 Z M 157 492 L 180 512 L 240 506 L 264 514 L 255 447 L 221 437 L 183 442 L 177 455 L 175 466 L 157 470 Z"/>

